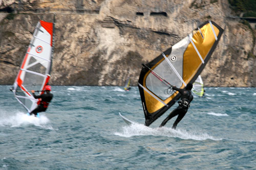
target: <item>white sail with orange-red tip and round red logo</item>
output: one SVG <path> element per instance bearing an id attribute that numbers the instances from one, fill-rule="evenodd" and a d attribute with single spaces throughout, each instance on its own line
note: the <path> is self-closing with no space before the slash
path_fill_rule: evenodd
<path id="1" fill-rule="evenodd" d="M 53 46 L 54 23 L 38 21 L 12 89 L 28 112 L 35 109 L 38 102 L 31 90 L 44 90 L 50 79 Z"/>

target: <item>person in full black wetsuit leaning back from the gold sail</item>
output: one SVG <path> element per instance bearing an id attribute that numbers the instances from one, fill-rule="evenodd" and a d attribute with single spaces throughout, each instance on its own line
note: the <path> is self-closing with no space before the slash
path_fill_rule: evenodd
<path id="1" fill-rule="evenodd" d="M 174 90 L 177 90 L 181 94 L 181 98 L 179 103 L 179 106 L 174 109 L 161 123 L 160 127 L 164 126 L 169 119 L 173 118 L 174 116 L 178 115 L 177 119 L 174 122 L 173 129 L 176 129 L 177 124 L 180 122 L 180 120 L 185 116 L 190 102 L 193 101 L 193 95 L 191 94 L 191 89 L 193 87 L 193 84 L 188 83 L 185 89 L 177 88 L 176 86 L 173 86 Z"/>

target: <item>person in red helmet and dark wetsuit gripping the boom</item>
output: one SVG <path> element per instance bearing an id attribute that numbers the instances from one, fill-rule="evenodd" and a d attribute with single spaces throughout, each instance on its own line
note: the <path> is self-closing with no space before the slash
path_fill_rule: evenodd
<path id="1" fill-rule="evenodd" d="M 35 116 L 37 116 L 38 112 L 46 111 L 48 105 L 50 104 L 50 102 L 53 98 L 53 94 L 50 92 L 51 86 L 49 86 L 49 85 L 47 85 L 45 87 L 45 91 L 46 91 L 46 93 L 44 93 L 44 94 L 35 95 L 35 91 L 31 90 L 34 98 L 39 99 L 40 104 L 37 106 L 37 108 L 35 108 L 32 112 L 29 113 L 30 115 L 34 114 Z"/>

